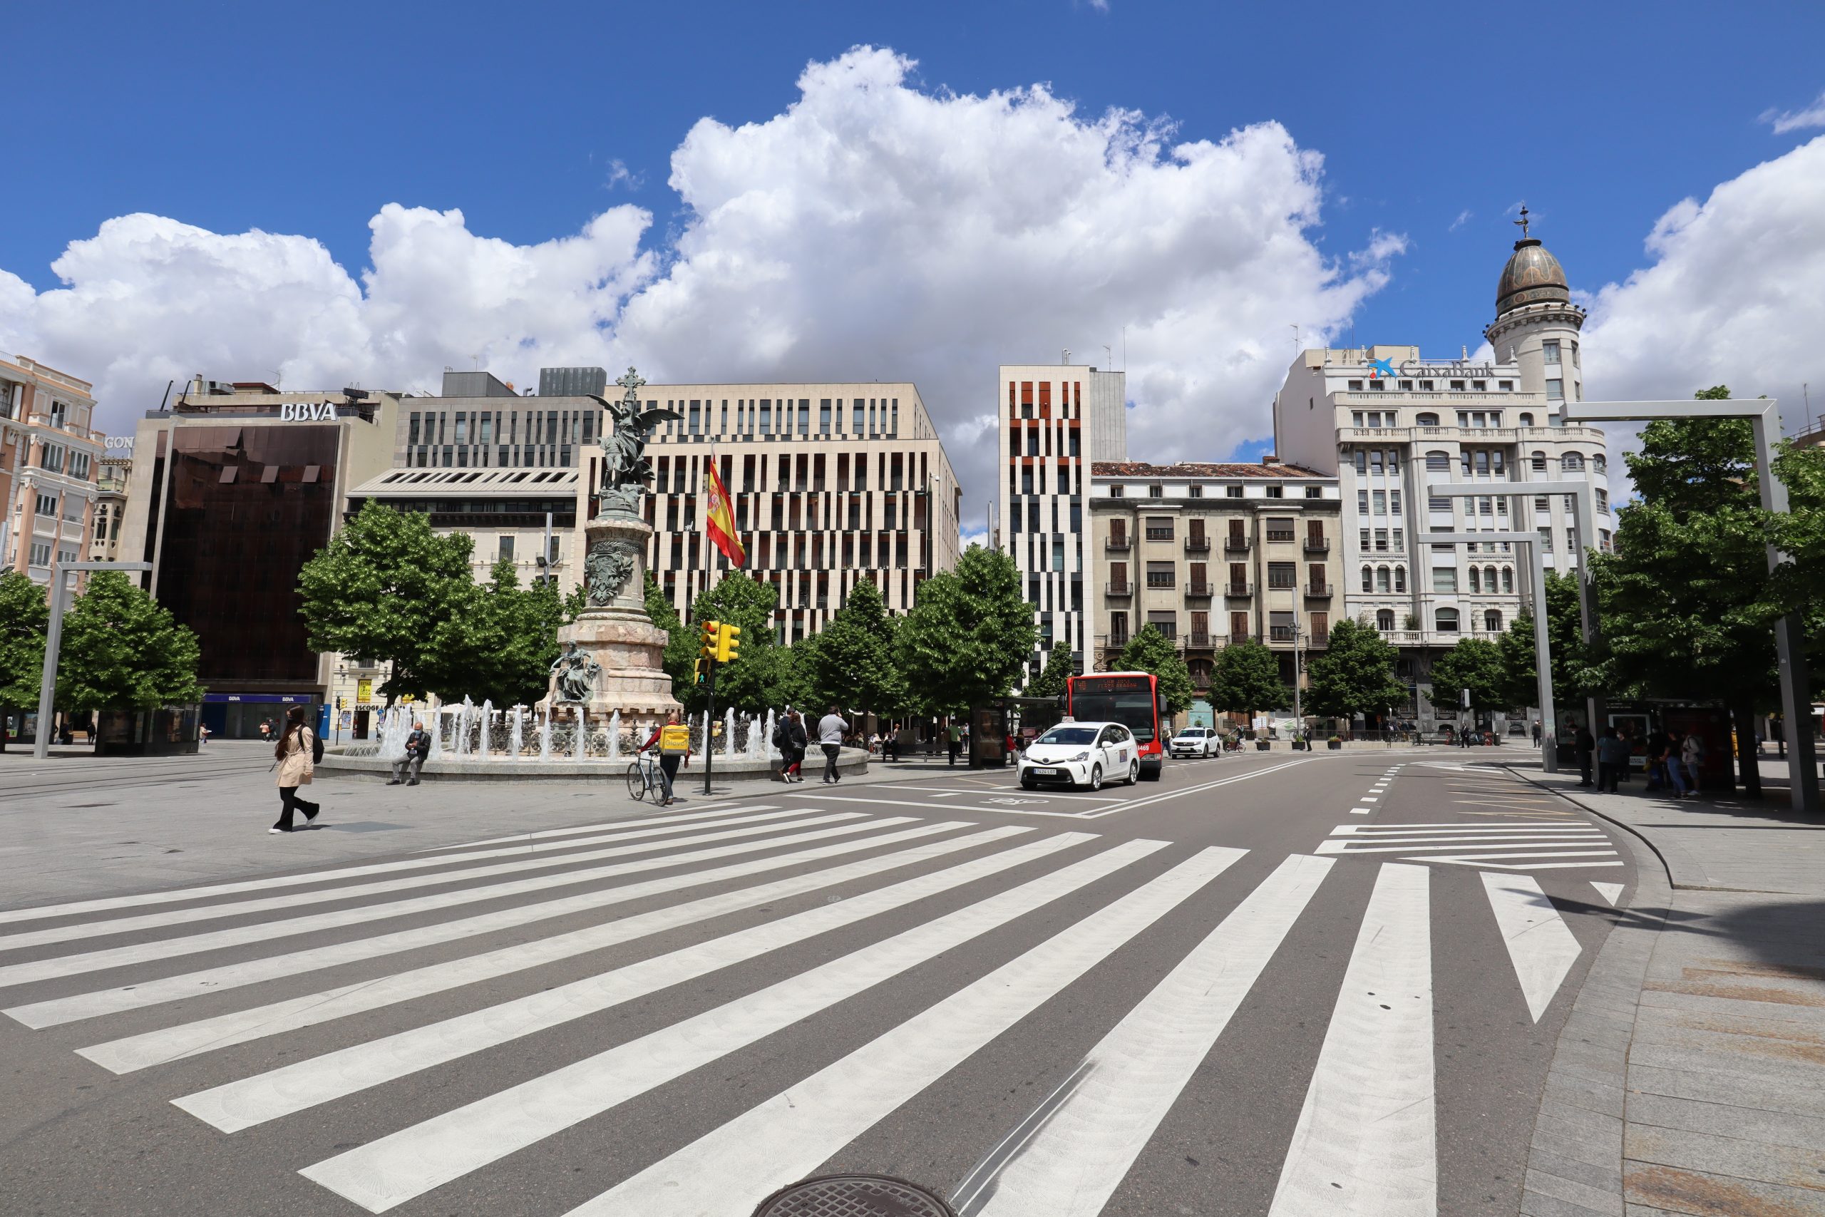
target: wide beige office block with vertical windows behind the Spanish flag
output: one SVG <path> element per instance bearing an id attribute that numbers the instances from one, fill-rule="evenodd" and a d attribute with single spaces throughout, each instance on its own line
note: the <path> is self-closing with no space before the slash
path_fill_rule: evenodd
<path id="1" fill-rule="evenodd" d="M 646 518 L 648 564 L 686 620 L 730 569 L 703 531 L 712 462 L 746 571 L 779 589 L 781 642 L 818 633 L 861 578 L 903 613 L 920 582 L 954 569 L 962 491 L 912 383 L 646 385 L 641 396 L 679 414 L 646 445 Z"/>

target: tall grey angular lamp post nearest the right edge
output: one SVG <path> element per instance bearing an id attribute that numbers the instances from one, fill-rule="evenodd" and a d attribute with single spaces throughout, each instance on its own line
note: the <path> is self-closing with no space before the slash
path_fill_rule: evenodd
<path id="1" fill-rule="evenodd" d="M 1774 476 L 1774 442 L 1781 434 L 1781 403 L 1774 398 L 1748 401 L 1566 401 L 1566 421 L 1646 421 L 1653 418 L 1747 418 L 1756 436 L 1756 482 L 1763 511 L 1787 511 L 1787 485 Z M 1787 560 L 1768 546 L 1768 569 Z M 1781 713 L 1785 733 L 1794 737 L 1788 774 L 1792 808 L 1820 814 L 1820 779 L 1812 748 L 1812 693 L 1807 679 L 1805 620 L 1788 613 L 1774 624 L 1774 648 L 1781 668 Z"/>

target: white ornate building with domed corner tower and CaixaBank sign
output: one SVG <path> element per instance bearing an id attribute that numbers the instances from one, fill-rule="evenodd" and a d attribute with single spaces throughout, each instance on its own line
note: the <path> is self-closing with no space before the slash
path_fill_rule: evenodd
<path id="1" fill-rule="evenodd" d="M 1301 350 L 1274 396 L 1278 456 L 1338 476 L 1343 609 L 1400 646 L 1414 699 L 1394 717 L 1425 732 L 1458 721 L 1424 695 L 1431 661 L 1460 639 L 1493 639 L 1531 604 L 1526 555 L 1504 542 L 1429 546 L 1425 535 L 1537 529 L 1548 566 L 1570 571 L 1580 549 L 1571 504 L 1524 484 L 1579 478 L 1595 484 L 1599 547 L 1613 527 L 1604 432 L 1566 425 L 1562 411 L 1584 396 L 1584 310 L 1526 213 L 1520 223 L 1484 328 L 1487 358 L 1467 347 L 1444 359 L 1418 347 Z M 1489 493 L 1427 493 L 1442 482 L 1487 482 Z M 1529 730 L 1496 717 L 1498 730 Z"/>

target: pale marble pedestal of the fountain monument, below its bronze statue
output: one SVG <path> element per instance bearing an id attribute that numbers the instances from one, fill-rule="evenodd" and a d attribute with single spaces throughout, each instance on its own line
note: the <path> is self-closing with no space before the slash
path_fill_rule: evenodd
<path id="1" fill-rule="evenodd" d="M 604 724 L 617 710 L 624 728 L 655 726 L 683 706 L 672 697 L 672 677 L 664 670 L 666 631 L 646 615 L 646 549 L 653 529 L 637 516 L 602 515 L 584 535 L 589 606 L 558 628 L 558 642 L 566 648 L 575 642 L 602 670 L 582 702 L 558 701 L 553 675 L 544 704 L 557 719 L 582 710 L 591 726 Z"/>

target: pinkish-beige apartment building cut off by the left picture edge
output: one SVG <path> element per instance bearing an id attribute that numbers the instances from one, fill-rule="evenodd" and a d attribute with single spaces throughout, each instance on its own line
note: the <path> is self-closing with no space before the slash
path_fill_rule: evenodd
<path id="1" fill-rule="evenodd" d="M 0 359 L 0 569 L 49 586 L 53 564 L 88 558 L 106 442 L 93 416 L 89 381 Z"/>

